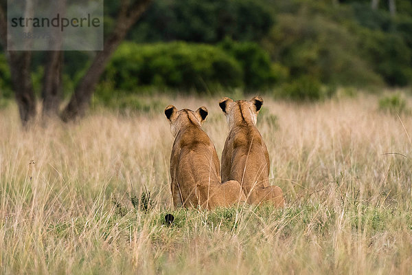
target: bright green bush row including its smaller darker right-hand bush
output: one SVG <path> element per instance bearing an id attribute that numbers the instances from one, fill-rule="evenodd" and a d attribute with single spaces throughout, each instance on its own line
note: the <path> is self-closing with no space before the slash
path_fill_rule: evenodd
<path id="1" fill-rule="evenodd" d="M 217 46 L 198 43 L 124 43 L 109 63 L 103 81 L 115 89 L 138 86 L 214 91 L 264 89 L 277 80 L 276 67 L 253 42 L 230 39 Z"/>

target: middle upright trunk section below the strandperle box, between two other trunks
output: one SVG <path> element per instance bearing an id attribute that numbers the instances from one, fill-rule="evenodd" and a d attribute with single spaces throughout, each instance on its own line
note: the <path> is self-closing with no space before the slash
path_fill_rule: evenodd
<path id="1" fill-rule="evenodd" d="M 47 54 L 43 78 L 43 116 L 57 116 L 62 98 L 63 52 L 51 51 Z"/>

